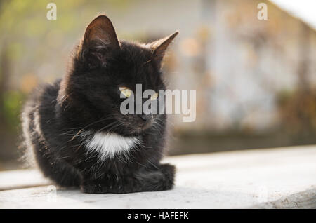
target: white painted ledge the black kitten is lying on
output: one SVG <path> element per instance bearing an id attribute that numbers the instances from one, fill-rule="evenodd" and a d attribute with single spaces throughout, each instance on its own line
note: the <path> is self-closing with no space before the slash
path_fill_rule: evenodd
<path id="1" fill-rule="evenodd" d="M 178 168 L 176 187 L 135 194 L 52 191 L 37 170 L 0 172 L 0 208 L 316 208 L 316 146 L 173 156 L 165 162 Z"/>

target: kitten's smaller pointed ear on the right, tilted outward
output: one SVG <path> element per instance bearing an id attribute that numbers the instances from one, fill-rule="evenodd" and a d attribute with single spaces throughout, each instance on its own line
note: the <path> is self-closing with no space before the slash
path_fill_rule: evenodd
<path id="1" fill-rule="evenodd" d="M 155 60 L 158 65 L 160 65 L 162 62 L 162 59 L 166 53 L 166 49 L 173 39 L 178 35 L 178 33 L 179 32 L 176 31 L 170 36 L 166 36 L 165 38 L 159 39 L 149 44 L 150 48 L 152 49 L 153 60 Z"/>

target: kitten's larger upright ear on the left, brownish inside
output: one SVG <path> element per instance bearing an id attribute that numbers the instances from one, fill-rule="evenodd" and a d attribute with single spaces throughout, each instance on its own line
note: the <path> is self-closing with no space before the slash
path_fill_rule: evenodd
<path id="1" fill-rule="evenodd" d="M 105 63 L 107 58 L 120 48 L 111 20 L 106 15 L 99 15 L 86 27 L 77 58 Z"/>

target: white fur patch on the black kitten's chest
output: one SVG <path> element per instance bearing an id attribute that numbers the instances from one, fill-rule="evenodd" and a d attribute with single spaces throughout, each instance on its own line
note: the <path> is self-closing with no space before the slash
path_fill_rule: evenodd
<path id="1" fill-rule="evenodd" d="M 115 154 L 133 149 L 139 143 L 138 137 L 124 137 L 116 133 L 95 133 L 86 141 L 86 148 L 88 151 L 98 152 L 102 158 L 112 158 Z"/>

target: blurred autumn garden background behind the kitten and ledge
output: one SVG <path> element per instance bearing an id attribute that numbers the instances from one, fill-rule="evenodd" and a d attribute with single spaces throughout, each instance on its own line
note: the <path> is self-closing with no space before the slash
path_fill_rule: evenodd
<path id="1" fill-rule="evenodd" d="M 46 18 L 50 2 L 57 20 Z M 22 168 L 22 104 L 37 84 L 65 74 L 98 13 L 119 39 L 180 31 L 164 71 L 169 88 L 197 90 L 197 119 L 171 116 L 167 154 L 316 144 L 316 4 L 284 2 L 0 0 L 0 170 Z M 259 3 L 268 20 L 258 20 Z"/>

